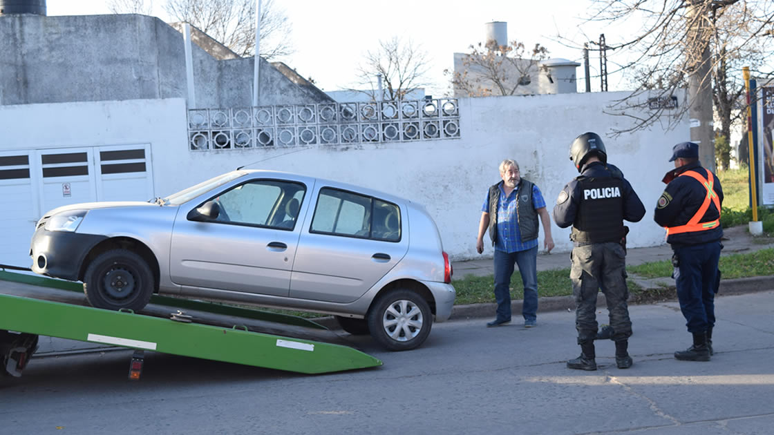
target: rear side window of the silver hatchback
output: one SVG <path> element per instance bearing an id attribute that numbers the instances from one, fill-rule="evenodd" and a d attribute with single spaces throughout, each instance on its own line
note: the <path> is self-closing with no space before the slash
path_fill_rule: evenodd
<path id="1" fill-rule="evenodd" d="M 400 241 L 396 204 L 331 188 L 320 189 L 311 232 Z"/>

